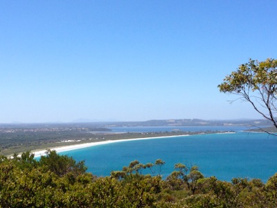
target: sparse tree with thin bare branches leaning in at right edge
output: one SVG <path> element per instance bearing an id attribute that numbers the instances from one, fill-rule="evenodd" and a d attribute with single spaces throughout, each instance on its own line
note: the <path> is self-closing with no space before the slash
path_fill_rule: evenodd
<path id="1" fill-rule="evenodd" d="M 249 60 L 231 72 L 218 85 L 220 92 L 236 94 L 249 102 L 265 119 L 277 128 L 277 60 Z"/>

